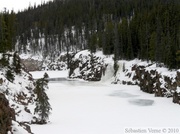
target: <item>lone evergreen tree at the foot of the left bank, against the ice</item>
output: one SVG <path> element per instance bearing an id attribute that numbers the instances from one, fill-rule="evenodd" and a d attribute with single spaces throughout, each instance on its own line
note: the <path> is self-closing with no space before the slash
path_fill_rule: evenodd
<path id="1" fill-rule="evenodd" d="M 47 119 L 49 117 L 50 111 L 52 110 L 51 105 L 49 103 L 49 98 L 46 94 L 46 90 L 48 89 L 48 75 L 44 74 L 44 77 L 38 79 L 36 81 L 36 87 L 34 92 L 37 95 L 36 98 L 36 107 L 34 109 L 34 113 L 39 115 L 39 119 L 37 123 L 46 124 Z"/>

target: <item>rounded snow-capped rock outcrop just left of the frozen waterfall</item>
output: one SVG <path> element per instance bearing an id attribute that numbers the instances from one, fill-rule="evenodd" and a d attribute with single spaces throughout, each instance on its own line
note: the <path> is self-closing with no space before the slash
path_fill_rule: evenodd
<path id="1" fill-rule="evenodd" d="M 100 81 L 105 72 L 104 57 L 88 50 L 77 53 L 69 65 L 69 77 L 88 81 Z"/>

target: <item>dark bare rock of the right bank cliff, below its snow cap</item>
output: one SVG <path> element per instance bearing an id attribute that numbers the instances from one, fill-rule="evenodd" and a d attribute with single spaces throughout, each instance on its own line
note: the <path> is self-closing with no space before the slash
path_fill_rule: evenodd
<path id="1" fill-rule="evenodd" d="M 144 92 L 155 94 L 156 97 L 173 97 L 173 102 L 180 104 L 180 72 L 176 77 L 162 75 L 156 70 L 147 70 L 145 66 L 134 65 L 133 81 Z M 124 82 L 125 83 L 125 82 Z"/>

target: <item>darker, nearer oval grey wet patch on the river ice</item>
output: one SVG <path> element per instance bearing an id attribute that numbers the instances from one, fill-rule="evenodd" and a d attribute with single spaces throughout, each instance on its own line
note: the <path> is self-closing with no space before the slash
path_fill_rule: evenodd
<path id="1" fill-rule="evenodd" d="M 152 106 L 154 104 L 154 100 L 148 99 L 131 99 L 128 102 L 137 106 Z"/>

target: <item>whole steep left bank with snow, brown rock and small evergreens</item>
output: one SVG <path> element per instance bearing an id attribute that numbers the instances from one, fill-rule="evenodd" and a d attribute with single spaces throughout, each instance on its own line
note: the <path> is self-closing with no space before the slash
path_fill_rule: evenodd
<path id="1" fill-rule="evenodd" d="M 17 53 L 0 53 L 0 133 L 31 133 L 35 118 L 35 94 L 32 76 Z"/>

